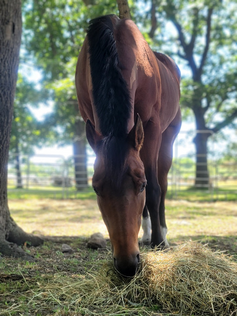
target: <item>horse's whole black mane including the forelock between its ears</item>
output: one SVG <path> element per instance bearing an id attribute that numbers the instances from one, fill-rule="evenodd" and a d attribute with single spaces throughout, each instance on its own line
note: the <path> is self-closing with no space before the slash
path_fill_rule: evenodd
<path id="1" fill-rule="evenodd" d="M 93 103 L 104 136 L 101 150 L 111 185 L 119 188 L 125 172 L 130 93 L 123 79 L 110 16 L 90 21 L 88 28 Z"/>

